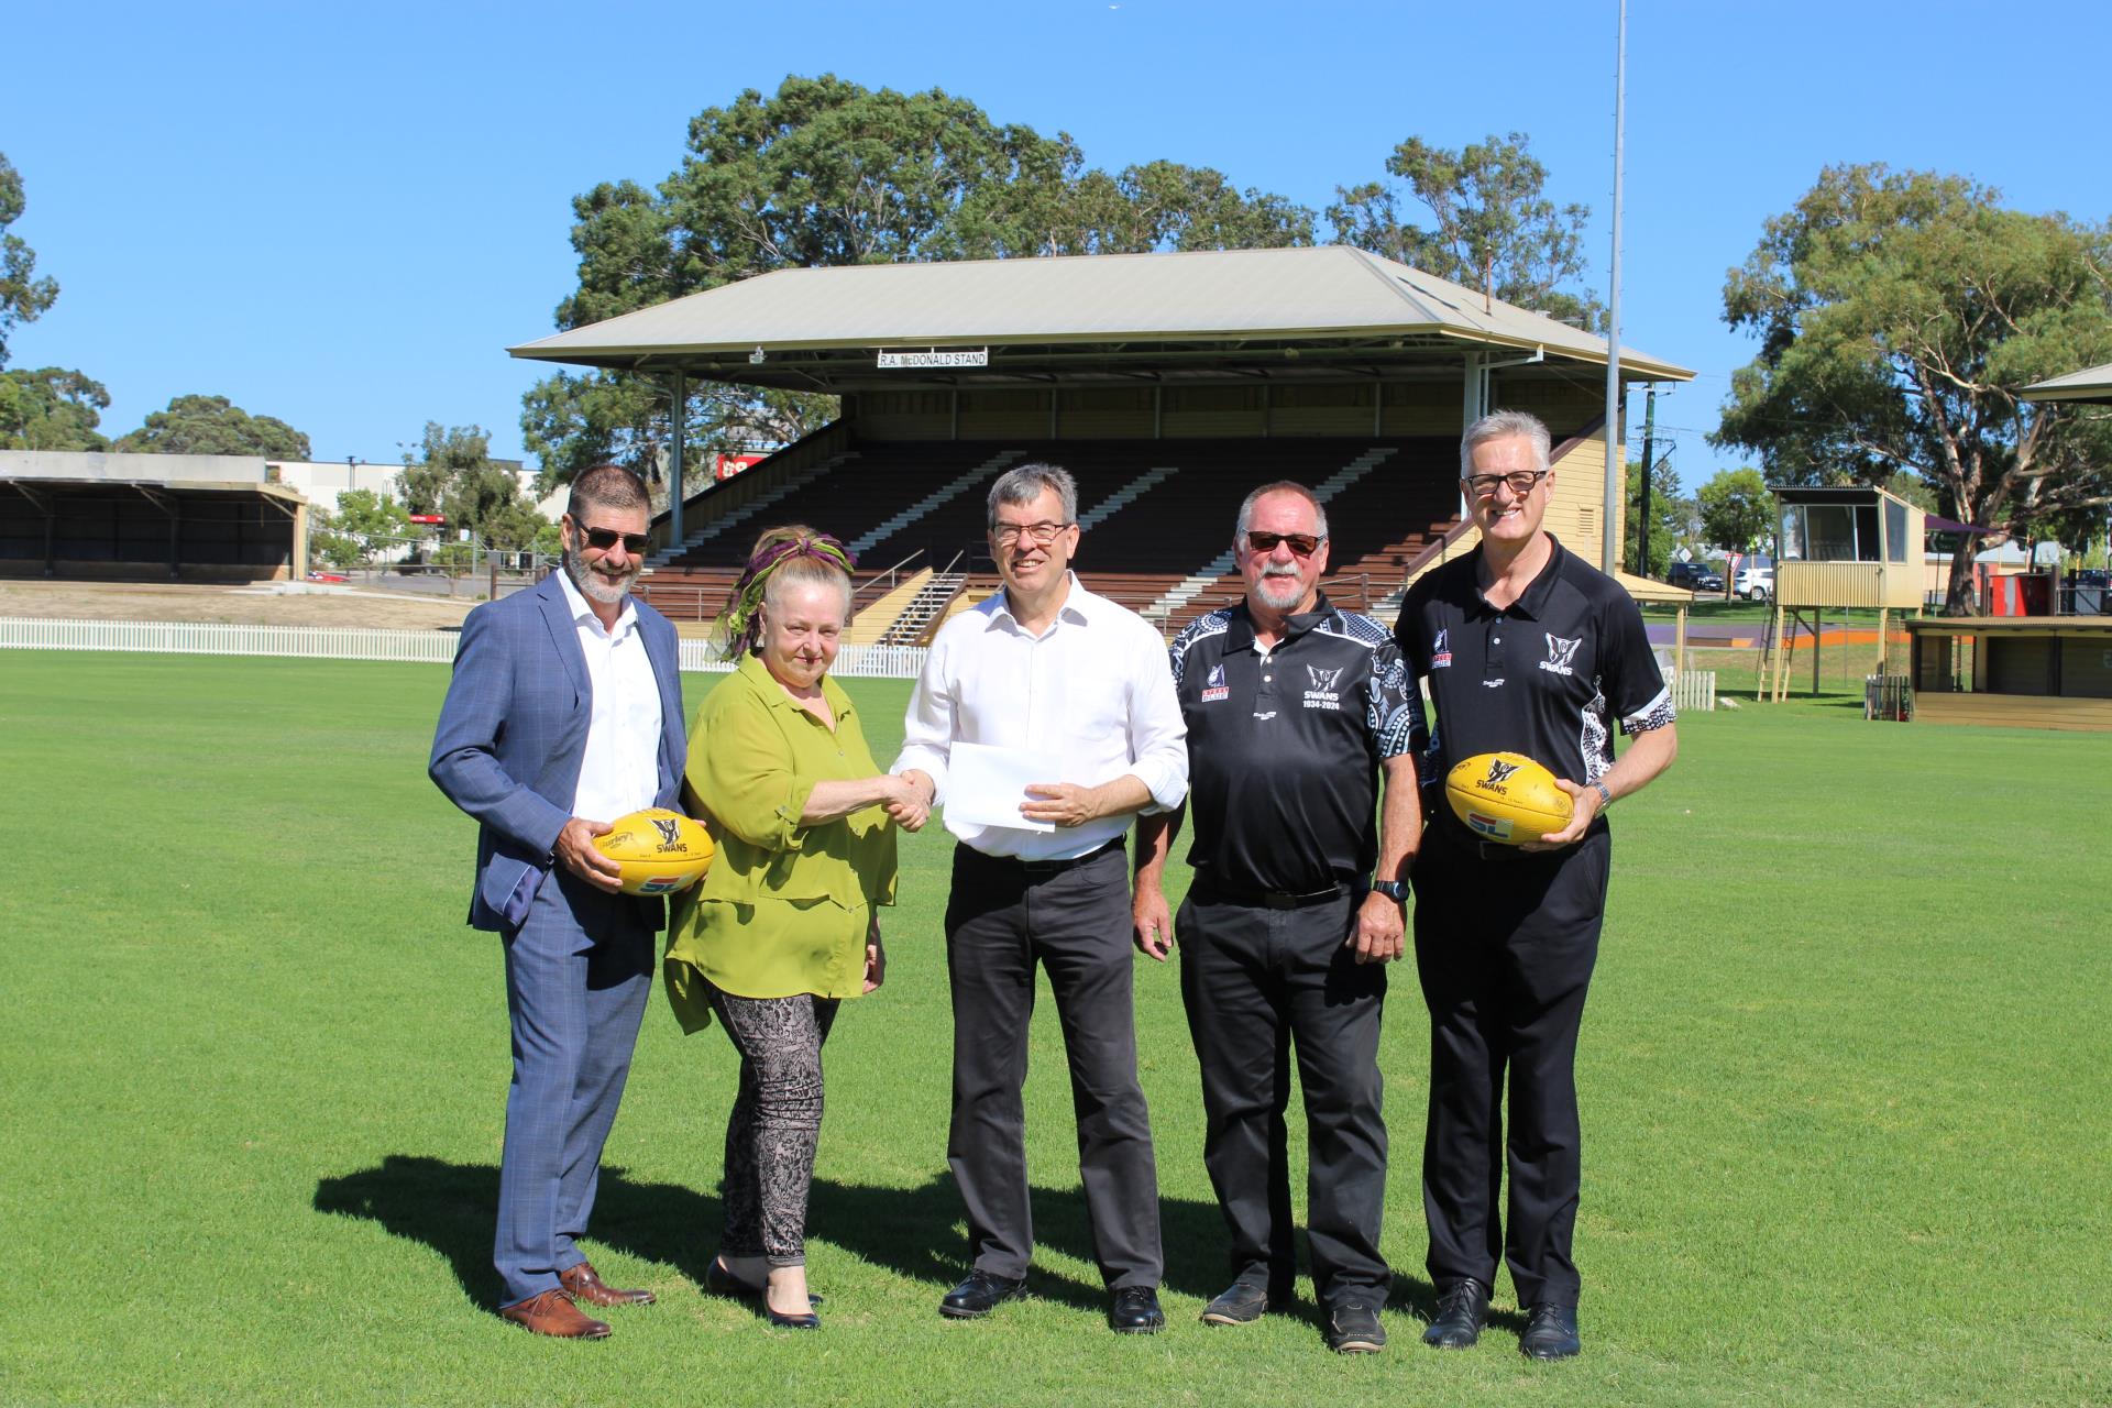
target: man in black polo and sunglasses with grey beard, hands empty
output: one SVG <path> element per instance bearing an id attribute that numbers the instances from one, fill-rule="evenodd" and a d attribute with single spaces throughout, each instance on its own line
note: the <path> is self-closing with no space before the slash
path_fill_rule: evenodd
<path id="1" fill-rule="evenodd" d="M 1181 815 L 1140 817 L 1136 944 L 1164 960 L 1181 939 L 1181 996 L 1208 1115 L 1204 1163 L 1231 1231 L 1233 1283 L 1204 1321 L 1246 1324 L 1271 1300 L 1290 1300 L 1284 1108 L 1295 1039 L 1314 1292 L 1328 1345 L 1373 1353 L 1385 1345 L 1379 1307 L 1392 1283 L 1379 1256 L 1379 1011 L 1421 834 L 1409 751 L 1421 695 L 1385 627 L 1320 595 L 1326 515 L 1312 490 L 1284 481 L 1248 494 L 1233 553 L 1246 600 L 1172 646 L 1195 882 L 1170 922 L 1162 876 Z"/>

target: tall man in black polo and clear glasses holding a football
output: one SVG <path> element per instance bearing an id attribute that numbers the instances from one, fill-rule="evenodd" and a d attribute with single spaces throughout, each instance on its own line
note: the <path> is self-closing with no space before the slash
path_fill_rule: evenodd
<path id="1" fill-rule="evenodd" d="M 1432 823 L 1415 861 L 1415 963 L 1430 1005 L 1423 1216 L 1438 1313 L 1423 1340 L 1481 1336 L 1497 1256 L 1527 1309 L 1521 1349 L 1565 1359 L 1578 1340 L 1576 1045 L 1599 952 L 1611 857 L 1599 815 L 1679 749 L 1643 616 L 1611 578 L 1544 528 L 1548 429 L 1495 412 L 1459 443 L 1481 547 L 1409 591 L 1396 638 L 1430 680 L 1417 739 Z M 1633 737 L 1614 760 L 1614 726 Z M 1561 779 L 1569 825 L 1531 846 L 1468 832 L 1438 796 L 1462 758 L 1525 754 Z M 1510 1136 L 1502 1127 L 1510 1081 Z M 1495 1188 L 1510 1176 L 1508 1226 Z"/>

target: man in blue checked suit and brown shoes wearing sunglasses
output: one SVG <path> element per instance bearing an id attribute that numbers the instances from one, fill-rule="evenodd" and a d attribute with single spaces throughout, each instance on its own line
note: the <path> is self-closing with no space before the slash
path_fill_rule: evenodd
<path id="1" fill-rule="evenodd" d="M 498 933 L 513 1085 L 498 1169 L 501 1315 L 602 1338 L 579 1309 L 650 1302 L 579 1250 L 623 1098 L 663 901 L 623 895 L 593 849 L 615 817 L 674 806 L 686 754 L 676 631 L 629 591 L 650 500 L 627 469 L 572 483 L 564 570 L 463 623 L 431 777 L 477 819 L 469 922 Z"/>

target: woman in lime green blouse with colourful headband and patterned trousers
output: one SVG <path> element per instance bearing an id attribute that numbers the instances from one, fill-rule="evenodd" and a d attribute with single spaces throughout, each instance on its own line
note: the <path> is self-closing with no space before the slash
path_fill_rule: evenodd
<path id="1" fill-rule="evenodd" d="M 822 1043 L 836 1005 L 885 977 L 874 906 L 895 895 L 893 827 L 925 823 L 828 678 L 849 610 L 843 545 L 800 526 L 762 534 L 727 612 L 739 667 L 705 697 L 689 745 L 691 811 L 718 857 L 678 903 L 665 963 L 682 1028 L 716 1013 L 741 1055 L 705 1281 L 760 1294 L 771 1324 L 800 1330 L 822 1326 L 805 1254 Z"/>

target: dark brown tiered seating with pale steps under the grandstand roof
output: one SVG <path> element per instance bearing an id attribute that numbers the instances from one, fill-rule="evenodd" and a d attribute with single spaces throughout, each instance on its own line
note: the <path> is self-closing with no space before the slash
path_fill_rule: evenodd
<path id="1" fill-rule="evenodd" d="M 1326 494 L 1328 593 L 1352 608 L 1396 589 L 1459 509 L 1453 437 L 860 441 L 767 502 L 699 528 L 642 593 L 678 619 L 710 619 L 739 574 L 750 530 L 803 521 L 855 545 L 864 568 L 967 568 L 959 595 L 980 600 L 997 589 L 984 540 L 988 479 L 1031 460 L 1064 464 L 1079 479 L 1081 581 L 1166 629 L 1240 595 L 1227 549 L 1255 486 L 1297 479 Z M 908 627 L 912 638 L 927 638 L 929 621 L 953 606 L 927 595 L 919 608 L 936 614 Z"/>

